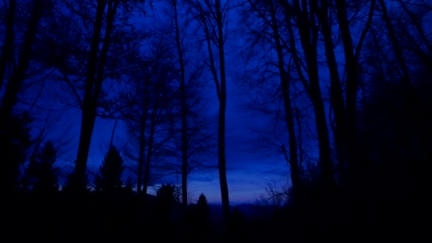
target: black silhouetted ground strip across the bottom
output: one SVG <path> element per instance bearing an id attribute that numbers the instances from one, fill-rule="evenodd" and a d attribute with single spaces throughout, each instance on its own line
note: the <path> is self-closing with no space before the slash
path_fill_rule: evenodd
<path id="1" fill-rule="evenodd" d="M 1 242 L 430 242 L 432 232 L 428 205 L 321 207 L 313 203 L 275 207 L 267 215 L 251 215 L 239 207 L 224 226 L 218 212 L 203 220 L 188 211 L 185 220 L 178 205 L 168 212 L 134 195 L 80 199 L 26 195 L 5 201 Z"/>

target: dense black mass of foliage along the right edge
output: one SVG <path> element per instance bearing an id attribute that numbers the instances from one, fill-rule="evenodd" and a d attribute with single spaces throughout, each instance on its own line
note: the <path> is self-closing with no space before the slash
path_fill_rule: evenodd
<path id="1" fill-rule="evenodd" d="M 416 229 L 422 226 L 421 221 L 412 220 L 414 215 L 430 217 L 430 69 L 427 73 L 423 76 L 426 82 L 413 80 L 411 100 L 401 99 L 406 89 L 399 80 L 387 84 L 381 79 L 371 80 L 379 85 L 370 90 L 359 110 L 356 154 L 365 166 L 358 171 L 363 175 L 358 198 L 373 198 L 374 204 L 363 207 L 374 210 L 375 218 L 394 229 Z M 398 217 L 389 217 L 394 213 Z"/>

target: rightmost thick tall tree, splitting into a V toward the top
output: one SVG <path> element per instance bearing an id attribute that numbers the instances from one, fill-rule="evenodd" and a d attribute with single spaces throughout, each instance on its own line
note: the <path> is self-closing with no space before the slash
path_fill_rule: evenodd
<path id="1" fill-rule="evenodd" d="M 330 121 L 333 129 L 335 145 L 338 151 L 339 175 L 342 183 L 347 183 L 350 176 L 346 168 L 355 166 L 355 155 L 353 153 L 355 143 L 355 122 L 357 112 L 357 92 L 359 89 L 360 76 L 360 51 L 365 41 L 369 28 L 372 25 L 372 17 L 375 9 L 375 1 L 370 1 L 369 9 L 366 11 L 366 21 L 361 23 L 360 36 L 357 36 L 358 43 L 354 46 L 352 37 L 352 22 L 348 20 L 348 11 L 352 10 L 353 16 L 362 12 L 360 6 L 348 7 L 345 1 L 335 1 L 333 5 L 329 1 L 320 1 L 315 3 L 315 12 L 320 23 L 320 32 L 323 35 L 325 45 L 325 57 L 327 60 L 328 70 L 330 72 L 330 105 L 334 114 L 334 122 Z M 364 11 L 363 11 L 364 12 Z M 339 75 L 338 59 L 335 55 L 335 39 L 333 28 L 336 26 L 333 21 L 335 18 L 340 29 L 342 39 L 343 53 L 345 60 L 346 78 L 342 80 Z M 345 85 L 345 90 L 342 86 Z M 330 119 L 333 119 L 330 117 Z"/>

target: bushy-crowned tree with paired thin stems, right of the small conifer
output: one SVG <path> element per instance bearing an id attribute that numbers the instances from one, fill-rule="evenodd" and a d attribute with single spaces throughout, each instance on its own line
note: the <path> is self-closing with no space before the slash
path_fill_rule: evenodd
<path id="1" fill-rule="evenodd" d="M 148 58 L 141 60 L 141 70 L 131 75 L 131 92 L 127 95 L 129 107 L 126 124 L 131 141 L 138 144 L 139 156 L 129 152 L 129 157 L 138 161 L 138 192 L 144 184 L 147 193 L 150 183 L 151 161 L 156 151 L 161 150 L 172 138 L 170 131 L 178 100 L 175 81 L 178 70 L 171 63 L 171 50 L 160 39 L 151 43 Z M 163 155 L 162 155 L 163 156 Z"/>

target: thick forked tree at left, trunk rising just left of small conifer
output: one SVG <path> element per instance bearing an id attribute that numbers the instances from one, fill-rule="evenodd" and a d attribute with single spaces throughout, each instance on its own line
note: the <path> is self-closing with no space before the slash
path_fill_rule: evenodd
<path id="1" fill-rule="evenodd" d="M 123 1 L 97 0 L 95 2 L 88 1 L 64 1 L 64 14 L 68 13 L 73 21 L 67 23 L 83 22 L 85 26 L 76 26 L 82 30 L 79 33 L 85 36 L 87 43 L 80 43 L 76 50 L 75 58 L 85 58 L 85 62 L 69 62 L 69 65 L 80 65 L 78 76 L 84 76 L 82 99 L 73 86 L 72 80 L 68 77 L 68 72 L 63 71 L 63 79 L 72 87 L 73 97 L 77 97 L 80 102 L 82 111 L 80 141 L 77 150 L 77 158 L 75 160 L 75 171 L 68 182 L 69 188 L 82 191 L 86 188 L 86 168 L 87 158 L 90 150 L 90 142 L 92 139 L 92 131 L 95 125 L 95 119 L 99 114 L 99 106 L 102 103 L 101 99 L 108 96 L 107 92 L 102 89 L 102 84 L 107 78 L 121 79 L 121 71 L 131 70 L 120 65 L 119 60 L 123 60 L 124 53 L 129 53 L 129 50 L 124 50 L 127 43 L 123 43 L 120 26 L 129 28 L 128 18 L 131 9 L 137 6 L 139 1 Z M 118 13 L 118 14 L 117 14 Z M 129 29 L 129 31 L 133 31 Z M 88 34 L 88 36 L 87 36 Z M 115 49 L 113 49 L 115 44 Z M 82 50 L 79 50 L 79 49 Z M 116 50 L 120 52 L 117 53 Z M 116 53 L 116 56 L 109 53 Z M 84 54 L 83 54 L 84 53 Z M 131 65 L 135 67 L 134 65 Z M 109 69 L 108 69 L 109 68 Z M 112 69 L 113 68 L 113 69 Z M 61 70 L 60 70 L 61 71 Z"/>

